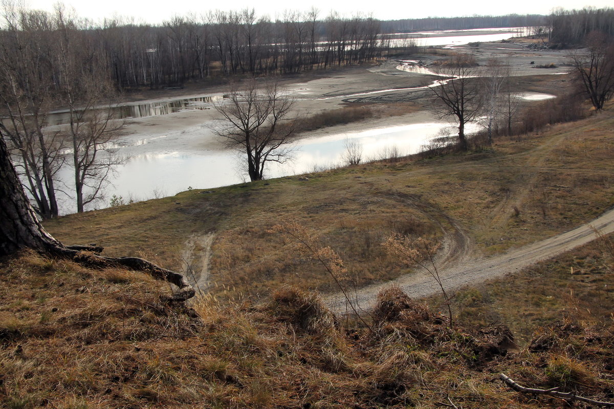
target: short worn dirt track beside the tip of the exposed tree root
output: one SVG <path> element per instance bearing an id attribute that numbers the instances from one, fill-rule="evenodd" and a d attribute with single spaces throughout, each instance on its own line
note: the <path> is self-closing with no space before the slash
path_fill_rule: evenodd
<path id="1" fill-rule="evenodd" d="M 190 284 L 196 288 L 196 294 L 207 292 L 211 245 L 215 237 L 215 233 L 195 235 L 185 242 L 185 250 L 182 254 L 186 264 L 184 275 L 188 278 Z"/>

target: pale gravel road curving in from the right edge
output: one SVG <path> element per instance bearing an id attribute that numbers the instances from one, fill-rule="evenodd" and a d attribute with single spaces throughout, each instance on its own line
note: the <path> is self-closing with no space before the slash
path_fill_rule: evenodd
<path id="1" fill-rule="evenodd" d="M 550 237 L 550 239 L 541 240 L 490 258 L 462 262 L 455 266 L 444 266 L 439 272 L 443 286 L 449 291 L 454 291 L 464 286 L 476 285 L 491 278 L 503 277 L 508 273 L 529 267 L 538 261 L 571 250 L 595 239 L 591 226 L 599 229 L 603 234 L 614 232 L 614 209 L 608 210 L 599 218 L 589 221 L 583 226 Z M 392 284 L 400 286 L 403 291 L 414 298 L 427 297 L 440 291 L 437 283 L 431 277 L 416 272 L 403 275 L 387 283 L 364 287 L 356 294 L 352 294 L 352 297 L 355 297 L 360 308 L 367 310 L 373 306 L 378 292 Z M 331 305 L 335 312 L 345 311 L 344 299 L 341 294 L 328 296 L 325 301 Z"/>

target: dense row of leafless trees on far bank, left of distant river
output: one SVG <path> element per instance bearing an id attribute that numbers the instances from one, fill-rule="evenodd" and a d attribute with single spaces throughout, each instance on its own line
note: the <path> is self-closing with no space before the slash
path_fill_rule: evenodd
<path id="1" fill-rule="evenodd" d="M 278 20 L 254 9 L 176 16 L 161 25 L 121 19 L 82 25 L 80 37 L 106 56 L 119 88 L 181 86 L 219 75 L 274 75 L 360 64 L 381 56 L 379 21 L 323 20 L 319 12 L 286 12 Z"/>

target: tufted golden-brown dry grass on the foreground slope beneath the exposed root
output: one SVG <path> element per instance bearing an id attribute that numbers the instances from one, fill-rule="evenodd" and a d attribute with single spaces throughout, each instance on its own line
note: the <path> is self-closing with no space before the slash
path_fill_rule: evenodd
<path id="1" fill-rule="evenodd" d="M 495 380 L 603 397 L 611 329 L 567 320 L 516 352 L 504 326 L 468 332 L 398 288 L 374 331 L 341 327 L 319 296 L 258 304 L 204 297 L 199 318 L 161 304 L 160 281 L 33 253 L 0 264 L 0 402 L 6 408 L 541 408 Z M 116 283 L 117 277 L 122 277 Z M 10 296 L 9 296 L 10 295 Z M 610 391 L 610 392 L 608 392 Z M 605 399 L 605 398 L 604 398 Z"/>

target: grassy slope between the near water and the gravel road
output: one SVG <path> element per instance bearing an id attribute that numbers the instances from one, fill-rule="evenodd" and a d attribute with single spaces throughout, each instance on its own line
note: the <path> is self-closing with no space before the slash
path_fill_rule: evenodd
<path id="1" fill-rule="evenodd" d="M 293 221 L 340 254 L 357 286 L 407 272 L 381 247 L 395 232 L 470 239 L 476 256 L 578 226 L 614 204 L 614 115 L 559 124 L 492 148 L 285 177 L 69 215 L 46 223 L 68 243 L 96 242 L 185 270 L 189 237 L 215 232 L 212 292 L 270 294 L 282 283 L 330 291 L 330 279 L 267 230 Z"/>

